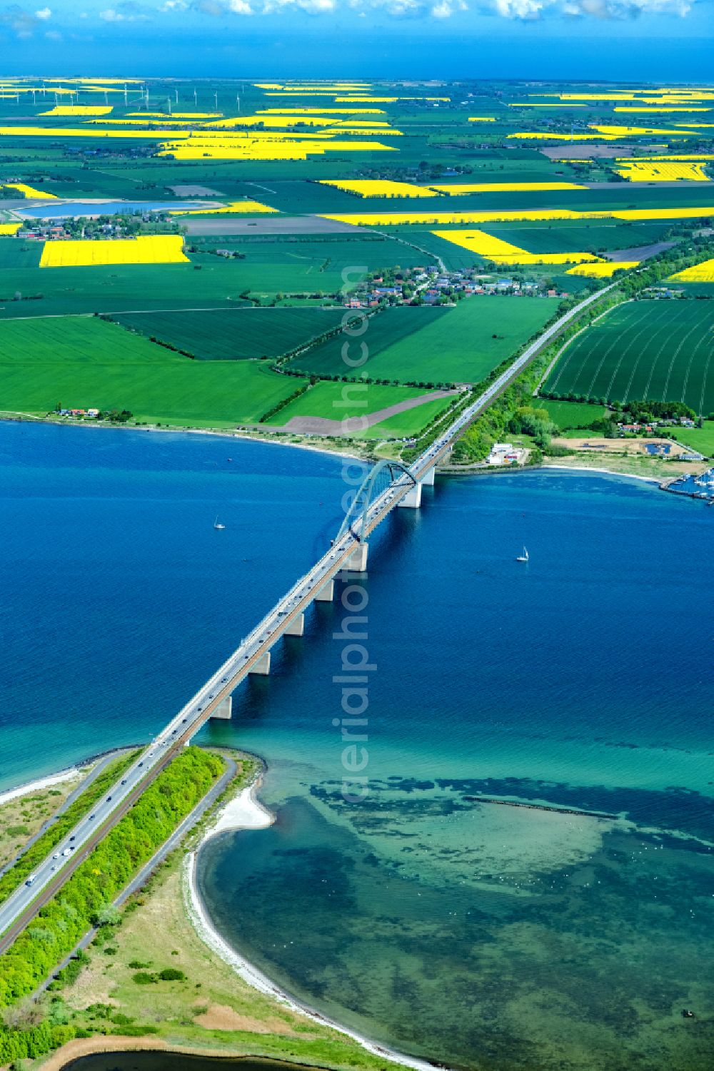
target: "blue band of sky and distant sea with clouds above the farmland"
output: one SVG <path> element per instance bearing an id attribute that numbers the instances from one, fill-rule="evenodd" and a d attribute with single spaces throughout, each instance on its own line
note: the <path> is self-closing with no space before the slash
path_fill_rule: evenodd
<path id="1" fill-rule="evenodd" d="M 714 0 L 0 0 L 2 74 L 714 79 Z"/>

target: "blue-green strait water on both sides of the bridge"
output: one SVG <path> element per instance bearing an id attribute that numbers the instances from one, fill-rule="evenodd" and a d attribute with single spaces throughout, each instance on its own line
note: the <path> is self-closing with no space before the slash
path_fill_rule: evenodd
<path id="1" fill-rule="evenodd" d="M 339 527 L 341 463 L 306 451 L 0 424 L 0 787 L 145 738 Z M 709 1068 L 712 512 L 556 471 L 396 511 L 360 597 L 366 799 L 341 790 L 340 601 L 202 734 L 266 759 L 277 814 L 200 854 L 223 935 L 451 1067 Z"/>

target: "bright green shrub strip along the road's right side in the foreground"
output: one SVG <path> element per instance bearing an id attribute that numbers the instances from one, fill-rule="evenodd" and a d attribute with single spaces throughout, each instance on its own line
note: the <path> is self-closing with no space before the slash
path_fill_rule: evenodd
<path id="1" fill-rule="evenodd" d="M 173 760 L 0 959 L 0 1006 L 32 993 L 72 951 L 222 770 L 220 758 L 198 748 Z"/>

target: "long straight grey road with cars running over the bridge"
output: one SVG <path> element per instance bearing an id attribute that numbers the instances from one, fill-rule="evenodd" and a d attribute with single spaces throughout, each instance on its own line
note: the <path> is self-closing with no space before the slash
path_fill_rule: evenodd
<path id="1" fill-rule="evenodd" d="M 453 421 L 420 456 L 373 501 L 366 515 L 365 537 L 376 528 L 418 481 L 451 449 L 455 440 L 505 390 L 533 360 L 536 353 L 554 338 L 567 323 L 593 302 L 599 300 L 616 283 L 598 290 L 562 316 L 548 328 L 512 364 L 491 383 L 475 402 Z M 361 534 L 361 533 L 360 533 Z M 301 576 L 276 603 L 272 609 L 241 639 L 238 648 L 206 683 L 182 707 L 137 757 L 107 795 L 68 833 L 34 871 L 28 881 L 16 889 L 0 905 L 0 952 L 10 947 L 27 922 L 61 887 L 71 873 L 87 857 L 91 848 L 127 813 L 144 788 L 157 776 L 178 750 L 188 743 L 213 711 L 240 684 L 248 674 L 268 654 L 285 629 L 302 614 L 317 592 L 343 570 L 359 541 L 349 530 L 334 543 L 312 569 Z"/>

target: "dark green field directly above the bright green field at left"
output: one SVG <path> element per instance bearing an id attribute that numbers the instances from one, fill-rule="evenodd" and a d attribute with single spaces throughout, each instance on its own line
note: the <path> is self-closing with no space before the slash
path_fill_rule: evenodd
<path id="1" fill-rule="evenodd" d="M 242 308 L 116 316 L 124 328 L 206 361 L 279 357 L 340 326 L 333 308 Z"/>

